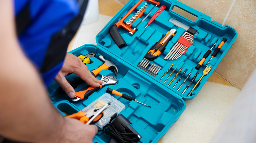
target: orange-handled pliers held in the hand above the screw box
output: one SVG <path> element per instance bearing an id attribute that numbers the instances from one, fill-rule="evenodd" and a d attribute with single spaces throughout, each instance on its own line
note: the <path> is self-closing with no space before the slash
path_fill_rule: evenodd
<path id="1" fill-rule="evenodd" d="M 72 115 L 69 115 L 69 118 L 79 119 L 81 122 L 85 124 L 95 124 L 97 123 L 103 116 L 104 116 L 104 110 L 110 107 L 110 103 L 107 103 L 104 106 L 96 107 L 89 109 L 86 112 L 79 111 L 77 113 L 74 113 Z"/>

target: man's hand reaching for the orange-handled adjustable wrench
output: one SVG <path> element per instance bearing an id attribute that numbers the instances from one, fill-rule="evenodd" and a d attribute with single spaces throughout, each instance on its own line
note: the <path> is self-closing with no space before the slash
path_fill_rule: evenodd
<path id="1" fill-rule="evenodd" d="M 67 53 L 62 69 L 56 75 L 54 80 L 62 87 L 70 98 L 75 97 L 75 89 L 68 83 L 65 75 L 71 72 L 78 75 L 90 86 L 99 87 L 99 85 L 102 84 L 102 81 L 96 79 L 78 57 L 71 53 Z"/>

